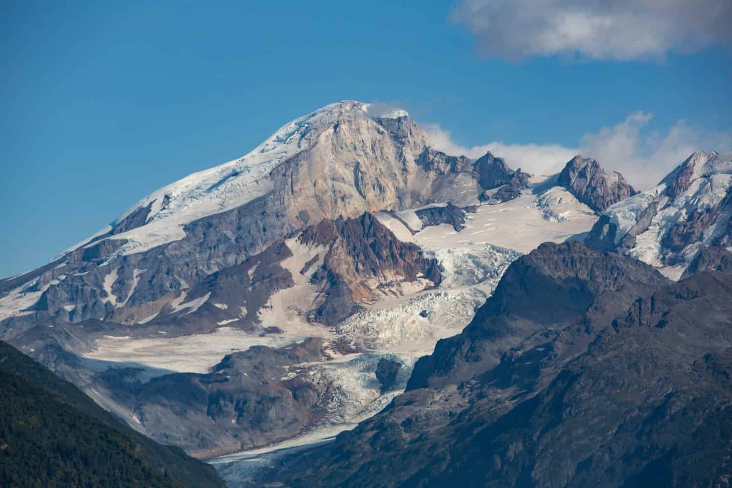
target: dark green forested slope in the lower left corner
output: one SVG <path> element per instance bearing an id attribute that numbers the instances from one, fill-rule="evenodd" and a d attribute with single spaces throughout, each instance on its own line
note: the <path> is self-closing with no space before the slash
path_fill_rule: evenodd
<path id="1" fill-rule="evenodd" d="M 210 466 L 133 431 L 5 342 L 0 383 L 4 487 L 223 487 Z"/>

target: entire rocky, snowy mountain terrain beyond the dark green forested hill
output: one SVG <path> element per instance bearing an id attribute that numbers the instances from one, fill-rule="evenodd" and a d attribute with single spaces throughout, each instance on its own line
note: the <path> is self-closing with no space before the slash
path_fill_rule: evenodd
<path id="1" fill-rule="evenodd" d="M 230 487 L 726 486 L 732 153 L 601 163 L 333 103 L 0 280 L 0 339 Z"/>

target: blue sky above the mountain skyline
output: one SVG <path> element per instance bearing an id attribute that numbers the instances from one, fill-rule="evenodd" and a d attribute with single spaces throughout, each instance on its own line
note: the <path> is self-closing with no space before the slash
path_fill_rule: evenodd
<path id="1" fill-rule="evenodd" d="M 691 147 L 729 149 L 726 7 L 638 37 L 534 25 L 527 1 L 508 18 L 479 0 L 3 2 L 0 277 L 337 100 L 399 105 L 444 148 L 532 169 L 586 150 L 651 181 Z M 657 18 L 649 5 L 633 17 Z M 595 25 L 588 8 L 572 26 Z"/>

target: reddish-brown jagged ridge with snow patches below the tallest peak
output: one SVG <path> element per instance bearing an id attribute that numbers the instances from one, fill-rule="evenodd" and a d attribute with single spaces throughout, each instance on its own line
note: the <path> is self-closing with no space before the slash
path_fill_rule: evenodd
<path id="1" fill-rule="evenodd" d="M 222 324 L 250 331 L 283 326 L 262 324 L 261 311 L 272 307 L 269 302 L 275 293 L 294 290 L 297 294 L 300 288 L 308 287 L 312 293 L 301 294 L 313 295 L 312 299 L 293 301 L 285 307 L 298 309 L 303 320 L 335 325 L 361 302 L 422 290 L 438 285 L 440 280 L 434 258 L 425 258 L 416 244 L 396 239 L 372 214 L 323 220 L 275 241 L 243 263 L 207 275 L 186 290 L 113 308 L 107 320 L 92 320 L 93 325 L 84 321 L 86 342 L 83 346 L 75 342 L 72 350 L 88 350 L 89 341 L 101 337 L 104 329 L 122 336 L 156 337 L 160 331 L 175 335 L 209 332 Z M 46 297 L 63 288 L 53 290 L 47 290 L 34 307 L 42 310 Z M 108 293 L 115 291 L 111 287 Z M 26 322 L 20 321 L 24 318 Z M 39 320 L 49 318 L 42 312 L 10 318 L 4 321 L 3 334 L 20 337 L 18 334 L 33 329 Z M 16 321 L 20 323 L 16 325 Z"/>

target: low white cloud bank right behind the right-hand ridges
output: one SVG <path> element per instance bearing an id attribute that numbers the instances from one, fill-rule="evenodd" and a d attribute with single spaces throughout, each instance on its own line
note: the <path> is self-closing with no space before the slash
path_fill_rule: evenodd
<path id="1" fill-rule="evenodd" d="M 605 170 L 619 171 L 638 189 L 653 187 L 696 150 L 732 149 L 732 131 L 707 132 L 680 120 L 665 132 L 649 132 L 647 125 L 652 117 L 641 111 L 632 113 L 612 127 L 586 132 L 580 137 L 578 147 L 500 141 L 468 147 L 455 143 L 449 131 L 438 124 L 423 124 L 423 127 L 430 145 L 447 154 L 476 158 L 490 151 L 504 158 L 510 167 L 534 174 L 559 173 L 569 159 L 582 154 L 597 159 Z"/>

